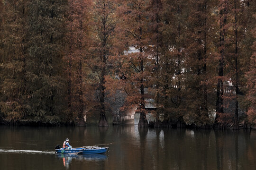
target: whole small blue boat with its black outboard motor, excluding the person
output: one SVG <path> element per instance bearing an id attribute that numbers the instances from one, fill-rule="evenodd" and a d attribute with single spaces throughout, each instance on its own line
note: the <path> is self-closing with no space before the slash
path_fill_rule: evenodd
<path id="1" fill-rule="evenodd" d="M 99 146 L 82 146 L 79 148 L 60 148 L 59 145 L 55 147 L 55 153 L 69 153 L 69 154 L 96 154 L 109 152 L 109 147 Z"/>

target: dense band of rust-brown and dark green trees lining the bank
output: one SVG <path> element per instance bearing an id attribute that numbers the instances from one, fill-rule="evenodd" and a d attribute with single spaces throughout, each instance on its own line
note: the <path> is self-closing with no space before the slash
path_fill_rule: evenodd
<path id="1" fill-rule="evenodd" d="M 0 121 L 84 126 L 98 114 L 109 126 L 106 99 L 122 91 L 139 127 L 149 112 L 155 127 L 256 123 L 255 0 L 2 0 L 0 11 Z"/>

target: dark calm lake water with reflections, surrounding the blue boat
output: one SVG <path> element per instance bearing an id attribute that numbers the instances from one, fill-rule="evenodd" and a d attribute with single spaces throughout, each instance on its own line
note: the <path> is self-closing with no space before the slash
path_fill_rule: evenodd
<path id="1" fill-rule="evenodd" d="M 56 155 L 56 144 L 108 146 Z M 100 145 L 102 144 L 102 145 Z M 256 170 L 256 131 L 0 126 L 0 170 Z"/>

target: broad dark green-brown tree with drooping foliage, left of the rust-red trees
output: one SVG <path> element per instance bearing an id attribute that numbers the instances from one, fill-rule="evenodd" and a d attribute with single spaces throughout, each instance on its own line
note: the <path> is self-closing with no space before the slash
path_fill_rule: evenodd
<path id="1" fill-rule="evenodd" d="M 62 110 L 66 5 L 67 0 L 31 0 L 28 6 L 27 102 L 29 115 L 38 122 L 57 123 Z"/>

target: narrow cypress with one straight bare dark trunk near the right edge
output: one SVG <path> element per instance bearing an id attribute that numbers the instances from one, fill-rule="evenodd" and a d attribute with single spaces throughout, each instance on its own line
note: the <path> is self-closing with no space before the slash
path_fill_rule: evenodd
<path id="1" fill-rule="evenodd" d="M 246 5 L 244 2 L 240 0 L 231 0 L 230 1 L 230 31 L 229 31 L 229 37 L 230 37 L 230 65 L 231 65 L 231 76 L 233 84 L 235 86 L 235 96 L 233 97 L 235 100 L 235 113 L 233 118 L 233 129 L 238 130 L 239 129 L 239 119 L 238 119 L 238 94 L 241 94 L 241 87 L 242 83 L 242 75 L 245 74 L 243 69 L 241 69 L 242 64 L 245 60 L 247 60 L 246 56 L 242 54 L 242 47 L 243 47 L 243 41 L 244 37 L 246 35 L 246 32 L 244 31 L 246 29 L 246 17 L 245 17 L 245 7 Z M 249 51 L 247 51 L 249 52 Z M 239 86 L 238 86 L 239 85 Z"/>

